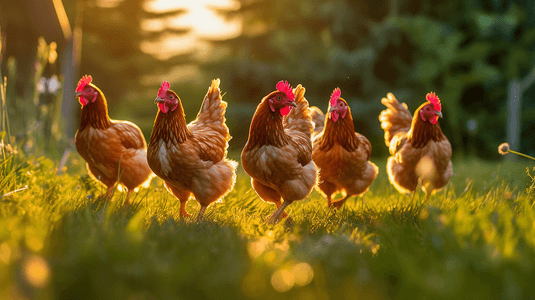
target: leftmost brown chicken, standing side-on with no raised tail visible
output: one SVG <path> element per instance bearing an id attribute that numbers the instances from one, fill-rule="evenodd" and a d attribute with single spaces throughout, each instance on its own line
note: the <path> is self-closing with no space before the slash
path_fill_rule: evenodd
<path id="1" fill-rule="evenodd" d="M 148 185 L 153 177 L 147 163 L 147 143 L 143 133 L 128 121 L 111 120 L 104 93 L 83 76 L 76 87 L 82 104 L 80 128 L 76 132 L 76 150 L 87 162 L 89 175 L 107 186 L 109 198 L 117 181 L 130 193 L 138 186 Z"/>

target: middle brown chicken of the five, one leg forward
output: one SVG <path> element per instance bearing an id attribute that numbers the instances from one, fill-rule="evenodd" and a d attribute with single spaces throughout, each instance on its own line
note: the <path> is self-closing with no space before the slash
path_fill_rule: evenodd
<path id="1" fill-rule="evenodd" d="M 305 88 L 298 85 L 292 91 L 283 81 L 276 87 L 258 105 L 241 154 L 243 169 L 258 196 L 277 205 L 270 223 L 276 223 L 281 214 L 285 217 L 284 209 L 293 201 L 305 198 L 317 178 Z"/>

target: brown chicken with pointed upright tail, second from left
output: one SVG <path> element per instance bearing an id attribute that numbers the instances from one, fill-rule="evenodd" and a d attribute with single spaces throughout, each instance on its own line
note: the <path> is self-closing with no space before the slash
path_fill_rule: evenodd
<path id="1" fill-rule="evenodd" d="M 189 216 L 186 203 L 193 195 L 201 205 L 201 220 L 208 205 L 225 197 L 236 182 L 238 163 L 226 158 L 231 137 L 219 82 L 212 81 L 197 118 L 189 124 L 169 82 L 162 83 L 154 100 L 159 110 L 147 152 L 149 166 L 180 201 L 181 217 Z"/>

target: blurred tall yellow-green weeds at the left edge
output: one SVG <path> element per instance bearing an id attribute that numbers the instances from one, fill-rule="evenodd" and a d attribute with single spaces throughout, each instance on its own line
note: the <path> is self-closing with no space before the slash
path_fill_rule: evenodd
<path id="1" fill-rule="evenodd" d="M 43 77 L 50 78 L 50 68 L 56 64 L 56 43 L 47 43 L 40 37 L 36 43 L 35 57 L 31 70 L 19 70 L 19 62 L 13 56 L 7 59 L 5 78 L 0 74 L 2 87 L 2 131 L 7 141 L 17 143 L 30 153 L 49 153 L 57 158 L 69 142 L 60 132 L 62 86 L 58 81 L 54 93 L 46 97 L 38 91 L 44 88 Z M 25 93 L 17 93 L 16 81 L 21 72 L 30 72 L 26 77 Z M 54 72 L 57 74 L 57 72 Z M 4 81 L 5 79 L 5 81 Z"/>

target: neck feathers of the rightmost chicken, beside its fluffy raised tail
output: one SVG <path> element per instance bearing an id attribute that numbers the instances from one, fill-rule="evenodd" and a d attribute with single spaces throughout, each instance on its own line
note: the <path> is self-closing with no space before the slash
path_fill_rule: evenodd
<path id="1" fill-rule="evenodd" d="M 438 122 L 431 124 L 430 122 L 424 121 L 420 118 L 420 110 L 427 104 L 428 103 L 425 102 L 424 104 L 420 105 L 412 117 L 411 129 L 409 130 L 407 136 L 412 147 L 414 148 L 423 147 L 431 140 L 439 142 L 446 139 L 446 136 L 442 133 L 442 129 L 440 128 L 440 124 Z"/>

